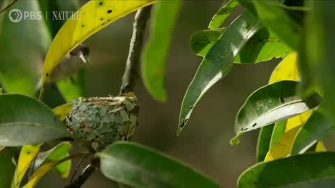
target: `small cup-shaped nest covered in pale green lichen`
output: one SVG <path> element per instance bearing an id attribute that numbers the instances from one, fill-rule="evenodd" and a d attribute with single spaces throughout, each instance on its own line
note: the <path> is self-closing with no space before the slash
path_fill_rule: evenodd
<path id="1" fill-rule="evenodd" d="M 80 97 L 66 118 L 68 131 L 92 152 L 114 141 L 128 141 L 138 126 L 140 107 L 133 93 L 117 97 Z"/>

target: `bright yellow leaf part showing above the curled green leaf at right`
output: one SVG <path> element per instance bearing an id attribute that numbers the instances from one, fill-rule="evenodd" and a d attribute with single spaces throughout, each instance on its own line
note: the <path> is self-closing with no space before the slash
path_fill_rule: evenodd
<path id="1" fill-rule="evenodd" d="M 300 79 L 298 70 L 297 53 L 286 56 L 281 63 L 277 65 L 271 74 L 269 84 L 282 80 L 297 81 Z"/>

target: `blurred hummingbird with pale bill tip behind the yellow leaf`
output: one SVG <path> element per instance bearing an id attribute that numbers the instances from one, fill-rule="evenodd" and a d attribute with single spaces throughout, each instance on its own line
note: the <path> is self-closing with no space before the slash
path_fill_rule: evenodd
<path id="1" fill-rule="evenodd" d="M 52 70 L 50 82 L 71 78 L 75 72 L 89 62 L 89 46 L 80 44 L 67 54 L 64 59 Z"/>

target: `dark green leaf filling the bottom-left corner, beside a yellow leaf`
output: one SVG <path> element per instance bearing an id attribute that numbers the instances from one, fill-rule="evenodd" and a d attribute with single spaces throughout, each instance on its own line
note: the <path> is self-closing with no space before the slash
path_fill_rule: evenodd
<path id="1" fill-rule="evenodd" d="M 10 187 L 12 182 L 15 166 L 12 163 L 13 148 L 0 150 L 0 188 Z"/>

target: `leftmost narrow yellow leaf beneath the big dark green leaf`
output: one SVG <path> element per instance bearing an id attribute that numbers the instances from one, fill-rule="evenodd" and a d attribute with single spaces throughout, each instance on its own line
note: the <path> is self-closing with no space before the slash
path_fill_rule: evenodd
<path id="1" fill-rule="evenodd" d="M 36 155 L 40 151 L 40 146 L 42 145 L 43 143 L 22 146 L 19 161 L 17 162 L 17 168 L 15 170 L 14 180 L 12 182 L 12 187 L 20 187 L 24 174 L 27 172 L 31 162 L 34 161 Z"/>

